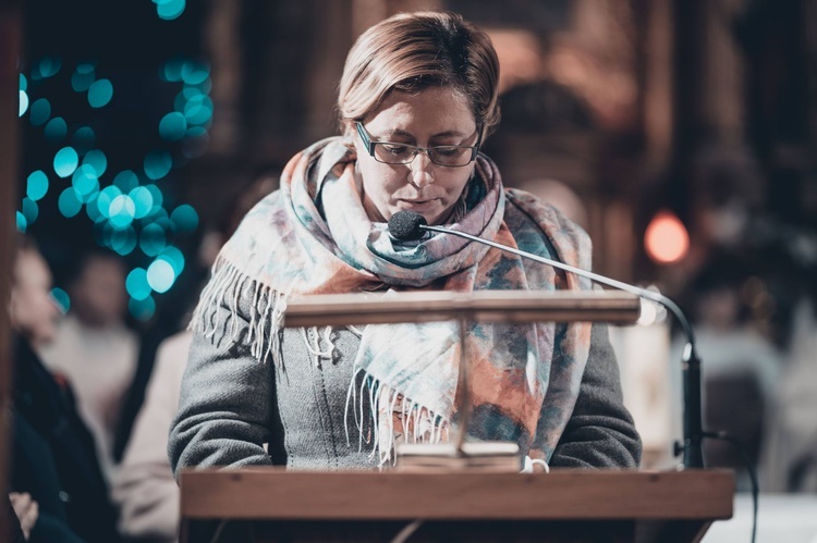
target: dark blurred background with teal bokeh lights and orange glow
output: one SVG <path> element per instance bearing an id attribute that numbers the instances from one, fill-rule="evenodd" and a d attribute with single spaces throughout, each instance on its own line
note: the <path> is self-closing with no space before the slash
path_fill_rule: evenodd
<path id="1" fill-rule="evenodd" d="M 795 317 L 817 289 L 812 0 L 29 0 L 16 221 L 56 298 L 70 311 L 76 256 L 102 248 L 126 264 L 143 345 L 182 326 L 205 234 L 259 176 L 337 133 L 349 47 L 417 9 L 488 30 L 503 121 L 485 151 L 508 186 L 589 232 L 596 271 L 779 355 L 755 380 L 771 383 L 727 395 L 760 406 L 744 417 L 759 449 L 752 432 L 785 399 Z M 706 304 L 724 289 L 718 320 Z"/>

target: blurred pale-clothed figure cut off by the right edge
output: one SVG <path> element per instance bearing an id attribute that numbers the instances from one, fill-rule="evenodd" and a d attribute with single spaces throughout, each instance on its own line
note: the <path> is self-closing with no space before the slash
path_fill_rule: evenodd
<path id="1" fill-rule="evenodd" d="M 785 368 L 776 388 L 764 442 L 766 492 L 817 492 L 817 306 L 795 310 Z"/>

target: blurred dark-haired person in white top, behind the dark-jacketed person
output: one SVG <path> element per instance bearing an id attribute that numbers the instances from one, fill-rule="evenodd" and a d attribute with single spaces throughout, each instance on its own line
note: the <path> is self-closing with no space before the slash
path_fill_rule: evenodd
<path id="1" fill-rule="evenodd" d="M 54 341 L 40 354 L 76 394 L 80 415 L 96 440 L 107 478 L 113 469 L 113 436 L 136 369 L 138 340 L 124 324 L 125 269 L 119 257 L 89 252 L 69 285 L 71 310 Z"/>

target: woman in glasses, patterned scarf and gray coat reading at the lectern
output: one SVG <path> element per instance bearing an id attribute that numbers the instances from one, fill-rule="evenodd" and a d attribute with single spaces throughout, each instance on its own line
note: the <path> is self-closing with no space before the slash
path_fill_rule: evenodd
<path id="1" fill-rule="evenodd" d="M 455 236 L 388 234 L 386 221 L 411 210 L 589 268 L 586 234 L 505 190 L 478 153 L 499 120 L 498 75 L 487 35 L 455 14 L 401 14 L 358 38 L 340 84 L 343 136 L 290 161 L 202 295 L 169 443 L 176 473 L 388 466 L 395 442 L 452 435 L 454 324 L 282 329 L 288 295 L 590 287 Z M 473 324 L 466 342 L 470 439 L 515 441 L 551 466 L 638 465 L 606 328 Z"/>

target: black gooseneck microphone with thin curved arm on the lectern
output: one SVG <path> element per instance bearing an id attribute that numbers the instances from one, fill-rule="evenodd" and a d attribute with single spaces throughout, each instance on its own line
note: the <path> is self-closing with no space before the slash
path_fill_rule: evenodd
<path id="1" fill-rule="evenodd" d="M 703 440 L 704 429 L 702 422 L 702 403 L 700 403 L 700 359 L 698 358 L 697 350 L 695 348 L 695 333 L 693 332 L 690 321 L 684 316 L 681 308 L 667 296 L 642 288 L 629 283 L 623 283 L 614 279 L 599 275 L 587 270 L 582 270 L 570 264 L 559 262 L 549 258 L 540 257 L 524 250 L 508 247 L 507 245 L 498 244 L 489 239 L 484 239 L 478 236 L 473 236 L 464 232 L 459 232 L 443 226 L 431 226 L 426 221 L 426 218 L 414 211 L 398 211 L 391 219 L 389 219 L 389 233 L 397 239 L 400 240 L 415 240 L 419 239 L 425 235 L 426 232 L 440 232 L 443 234 L 451 234 L 454 236 L 464 237 L 472 242 L 488 245 L 496 249 L 504 250 L 513 255 L 528 258 L 536 262 L 552 266 L 560 270 L 564 270 L 576 275 L 587 277 L 596 283 L 602 285 L 612 286 L 621 291 L 635 294 L 641 298 L 655 301 L 666 307 L 675 316 L 679 324 L 684 331 L 686 336 L 686 345 L 684 346 L 681 361 L 683 363 L 683 388 L 684 388 L 684 441 L 683 443 L 675 443 L 674 454 L 678 456 L 683 453 L 683 464 L 685 468 L 703 468 L 704 467 L 704 453 L 703 453 Z"/>

